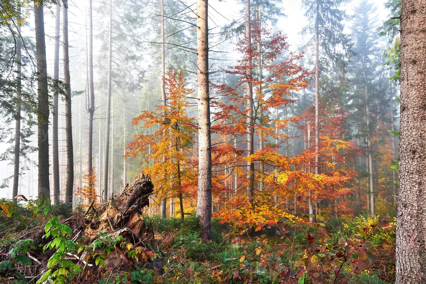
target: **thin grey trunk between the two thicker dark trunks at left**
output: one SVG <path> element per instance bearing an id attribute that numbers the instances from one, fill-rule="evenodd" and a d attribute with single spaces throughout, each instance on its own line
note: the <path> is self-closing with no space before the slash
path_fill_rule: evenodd
<path id="1" fill-rule="evenodd" d="M 53 66 L 53 79 L 59 79 L 59 40 L 60 40 L 60 5 L 55 9 L 55 59 Z M 53 166 L 53 202 L 58 205 L 60 201 L 59 184 L 59 146 L 58 146 L 58 90 L 53 95 L 52 118 L 52 166 Z"/>

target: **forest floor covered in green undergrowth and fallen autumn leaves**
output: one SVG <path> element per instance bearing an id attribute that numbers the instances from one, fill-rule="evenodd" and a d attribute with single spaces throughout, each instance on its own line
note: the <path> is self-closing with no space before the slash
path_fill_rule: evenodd
<path id="1" fill-rule="evenodd" d="M 6 201 L 1 204 L 5 204 L 4 202 Z M 67 207 L 56 207 L 53 211 L 60 220 L 84 214 L 71 212 Z M 0 283 L 35 283 L 36 278 L 25 275 L 23 266 L 31 264 L 19 258 L 20 255 L 25 255 L 27 250 L 23 241 L 18 241 L 18 236 L 23 231 L 46 224 L 52 219 L 43 216 L 42 212 L 36 214 L 33 210 L 20 206 L 14 208 L 14 213 L 16 214 L 10 217 L 6 214 L 0 215 L 1 247 L 9 250 L 1 252 L 3 260 L 0 262 Z M 276 226 L 265 226 L 255 231 L 250 227 L 237 229 L 233 224 L 222 224 L 219 219 L 213 218 L 212 239 L 203 241 L 199 238 L 198 219 L 193 214 L 185 214 L 183 221 L 175 217 L 161 219 L 159 216 L 145 216 L 144 223 L 153 225 L 159 249 L 151 254 L 145 251 L 144 258 L 146 261 L 148 256 L 148 262 L 150 256 L 152 260 L 161 258 L 161 270 L 154 272 L 146 264 L 140 266 L 136 263 L 126 271 L 99 272 L 84 283 L 394 282 L 394 218 L 365 218 L 360 215 L 356 218 L 352 216 L 319 220 L 323 223 L 292 223 L 283 219 Z M 79 242 L 73 241 L 75 244 Z M 81 242 L 83 244 L 82 240 Z M 129 249 L 127 252 L 131 255 L 134 250 L 130 250 L 128 245 L 123 246 Z M 83 247 L 87 250 L 86 246 Z M 27 248 L 30 250 L 30 246 Z M 93 248 L 95 251 L 95 246 Z M 77 251 L 79 250 L 76 249 L 75 253 Z M 110 253 L 108 250 L 103 252 L 106 255 Z M 134 255 L 137 257 L 136 252 Z M 6 255 L 7 258 L 4 258 Z M 101 256 L 96 262 L 97 265 L 99 262 L 102 264 L 103 259 Z M 19 264 L 19 261 L 22 264 Z M 34 262 L 35 260 L 32 261 L 33 264 Z M 62 262 L 58 263 L 60 268 Z M 17 273 L 19 266 L 20 273 Z M 63 267 L 63 270 L 63 281 L 51 283 L 82 283 L 70 281 L 75 277 L 73 274 L 80 273 L 78 269 Z M 16 276 L 18 274 L 20 278 Z M 37 283 L 44 282 L 39 280 Z"/>

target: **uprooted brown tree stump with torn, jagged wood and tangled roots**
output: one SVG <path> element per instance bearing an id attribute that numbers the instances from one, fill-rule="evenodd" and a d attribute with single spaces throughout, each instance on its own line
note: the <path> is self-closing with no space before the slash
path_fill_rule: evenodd
<path id="1" fill-rule="evenodd" d="M 102 232 L 103 238 L 124 238 L 126 247 L 132 247 L 138 252 L 144 252 L 144 257 L 131 258 L 126 247 L 116 246 L 108 255 L 104 255 L 104 266 L 96 264 L 95 258 L 91 257 L 92 250 L 83 250 L 80 255 L 69 253 L 69 260 L 75 262 L 81 273 L 74 275 L 72 283 L 92 283 L 93 280 L 101 278 L 108 273 L 120 273 L 129 271 L 132 267 L 149 268 L 156 273 L 162 273 L 164 263 L 161 257 L 150 259 L 145 252 L 158 252 L 154 231 L 151 224 L 146 224 L 143 218 L 144 207 L 149 206 L 149 196 L 154 189 L 150 177 L 139 175 L 135 181 L 126 184 L 120 194 L 112 196 L 103 204 L 97 206 L 89 205 L 84 215 L 73 215 L 62 220 L 72 229 L 72 241 L 79 240 L 81 245 L 92 244 L 99 238 Z M 26 277 L 39 278 L 47 271 L 46 264 L 52 256 L 52 251 L 42 251 L 42 247 L 52 238 L 43 238 L 45 234 L 44 225 L 29 229 L 21 235 L 20 239 L 33 239 L 35 250 L 29 250 L 28 257 L 32 259 L 32 265 L 21 267 Z M 41 246 L 40 246 L 41 245 Z M 0 260 L 5 260 L 9 248 L 0 248 Z M 95 252 L 98 249 L 95 249 Z M 155 256 L 156 254 L 154 254 Z"/>

